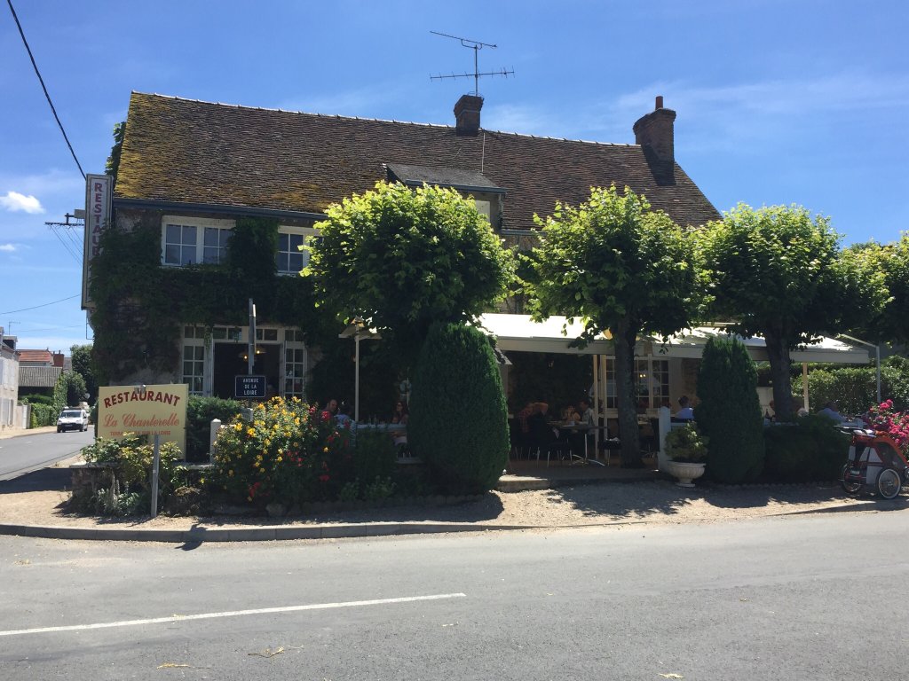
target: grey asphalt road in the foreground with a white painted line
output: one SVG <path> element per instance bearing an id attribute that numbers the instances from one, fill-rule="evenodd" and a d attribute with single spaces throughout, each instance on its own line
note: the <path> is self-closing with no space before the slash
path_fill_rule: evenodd
<path id="1" fill-rule="evenodd" d="M 183 547 L 0 537 L 0 678 L 901 678 L 906 518 Z"/>

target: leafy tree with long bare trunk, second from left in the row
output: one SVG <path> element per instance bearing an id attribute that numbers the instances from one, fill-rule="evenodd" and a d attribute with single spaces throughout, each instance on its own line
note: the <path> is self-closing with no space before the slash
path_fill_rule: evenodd
<path id="1" fill-rule="evenodd" d="M 583 344 L 608 331 L 615 347 L 622 463 L 641 465 L 634 389 L 634 346 L 692 323 L 700 300 L 693 240 L 644 196 L 594 188 L 574 207 L 557 203 L 534 250 L 534 318 L 578 317 Z"/>

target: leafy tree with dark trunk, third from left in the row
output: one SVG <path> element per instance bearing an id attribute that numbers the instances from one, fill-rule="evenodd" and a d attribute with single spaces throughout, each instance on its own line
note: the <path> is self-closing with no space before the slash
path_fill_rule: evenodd
<path id="1" fill-rule="evenodd" d="M 791 415 L 791 351 L 873 317 L 883 275 L 859 252 L 843 252 L 829 220 L 801 206 L 740 203 L 700 242 L 714 317 L 745 337 L 764 336 L 776 413 Z"/>

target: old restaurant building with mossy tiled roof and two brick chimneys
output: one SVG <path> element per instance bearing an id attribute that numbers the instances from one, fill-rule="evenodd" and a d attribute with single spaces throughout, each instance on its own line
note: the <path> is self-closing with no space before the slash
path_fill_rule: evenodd
<path id="1" fill-rule="evenodd" d="M 557 201 L 583 202 L 594 185 L 627 185 L 683 225 L 720 217 L 675 162 L 675 112 L 664 108 L 662 97 L 634 123 L 634 144 L 486 130 L 482 106 L 482 98 L 464 95 L 454 106 L 454 125 L 436 125 L 133 93 L 111 222 L 116 232 L 142 232 L 143 243 L 154 243 L 148 263 L 175 273 L 165 279 L 171 287 L 166 295 L 176 300 L 176 275 L 223 270 L 226 244 L 238 222 L 249 217 L 278 222 L 275 269 L 279 278 L 295 276 L 307 257 L 297 247 L 315 234 L 327 206 L 379 180 L 453 187 L 474 198 L 506 244 L 522 247 L 535 241 L 534 213 L 552 213 Z M 111 382 L 185 382 L 194 394 L 230 397 L 234 375 L 246 371 L 249 325 L 246 301 L 219 292 L 206 310 L 178 320 L 168 341 L 173 351 L 157 364 L 151 343 L 160 329 L 146 325 L 147 306 L 131 298 L 135 293 L 117 297 L 114 291 L 92 303 L 93 320 L 104 318 L 120 343 L 107 346 Z M 105 328 L 93 325 L 99 350 Z M 314 358 L 304 331 L 275 315 L 258 319 L 262 355 L 255 373 L 265 374 L 280 395 L 304 395 Z M 129 348 L 130 361 L 119 362 L 125 339 L 135 347 Z M 670 392 L 691 390 L 685 383 L 692 371 L 679 362 L 670 367 L 648 352 L 639 369 L 652 386 L 648 407 L 660 406 Z"/>

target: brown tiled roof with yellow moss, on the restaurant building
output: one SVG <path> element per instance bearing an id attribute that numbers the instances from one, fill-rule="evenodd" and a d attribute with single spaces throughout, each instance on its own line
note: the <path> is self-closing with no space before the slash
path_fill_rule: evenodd
<path id="1" fill-rule="evenodd" d="M 629 122 L 629 129 L 634 122 Z M 481 173 L 504 189 L 504 227 L 532 229 L 556 200 L 583 202 L 611 183 L 646 194 L 676 222 L 719 217 L 676 164 L 659 186 L 635 144 L 604 144 L 454 126 L 298 114 L 157 94 L 130 99 L 115 197 L 324 212 L 385 179 L 385 163 Z"/>

